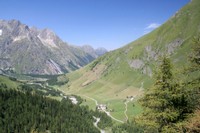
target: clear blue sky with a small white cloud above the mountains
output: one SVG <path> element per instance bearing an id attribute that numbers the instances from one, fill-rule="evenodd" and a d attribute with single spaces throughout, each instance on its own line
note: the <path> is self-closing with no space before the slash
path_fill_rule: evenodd
<path id="1" fill-rule="evenodd" d="M 53 30 L 73 45 L 113 50 L 166 22 L 190 0 L 1 0 L 0 19 Z"/>

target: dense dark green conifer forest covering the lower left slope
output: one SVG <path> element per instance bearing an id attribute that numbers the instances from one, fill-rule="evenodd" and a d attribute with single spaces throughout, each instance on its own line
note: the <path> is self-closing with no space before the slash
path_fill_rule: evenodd
<path id="1" fill-rule="evenodd" d="M 12 89 L 0 89 L 1 133 L 98 133 L 93 115 L 104 116 L 102 121 L 112 121 L 105 114 L 91 111 L 87 106 L 73 105 L 70 100 L 61 102 L 41 95 Z M 112 125 L 112 124 L 111 124 Z M 101 124 L 101 127 L 106 125 Z"/>

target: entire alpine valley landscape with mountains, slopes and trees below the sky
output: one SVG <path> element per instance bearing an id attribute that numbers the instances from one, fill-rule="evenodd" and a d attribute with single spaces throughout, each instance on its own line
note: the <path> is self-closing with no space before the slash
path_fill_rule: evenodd
<path id="1" fill-rule="evenodd" d="M 1 20 L 0 132 L 199 133 L 199 7 L 109 52 Z"/>

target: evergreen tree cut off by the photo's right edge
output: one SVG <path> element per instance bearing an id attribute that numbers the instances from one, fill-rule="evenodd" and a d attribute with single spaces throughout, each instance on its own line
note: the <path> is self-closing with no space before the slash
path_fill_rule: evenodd
<path id="1" fill-rule="evenodd" d="M 194 38 L 192 52 L 189 56 L 190 66 L 183 75 L 187 78 L 183 88 L 187 90 L 187 101 L 193 113 L 184 127 L 188 133 L 200 132 L 200 34 Z"/>

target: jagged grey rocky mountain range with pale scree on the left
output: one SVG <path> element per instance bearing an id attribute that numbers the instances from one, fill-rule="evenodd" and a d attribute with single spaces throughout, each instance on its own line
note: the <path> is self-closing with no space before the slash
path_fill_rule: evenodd
<path id="1" fill-rule="evenodd" d="M 98 56 L 63 42 L 49 29 L 0 20 L 0 69 L 21 74 L 62 74 Z"/>

